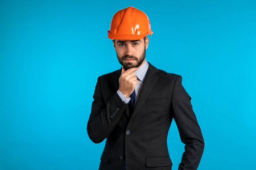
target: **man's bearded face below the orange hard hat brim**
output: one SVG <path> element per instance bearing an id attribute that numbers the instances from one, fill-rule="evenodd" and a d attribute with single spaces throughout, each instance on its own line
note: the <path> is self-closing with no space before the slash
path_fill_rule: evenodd
<path id="1" fill-rule="evenodd" d="M 113 40 L 113 45 L 119 63 L 123 69 L 128 70 L 133 67 L 140 67 L 144 63 L 148 37 L 146 40 Z"/>

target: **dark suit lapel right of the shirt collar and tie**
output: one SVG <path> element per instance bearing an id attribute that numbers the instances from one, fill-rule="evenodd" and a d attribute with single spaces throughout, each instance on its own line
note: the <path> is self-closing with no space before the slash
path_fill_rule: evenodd
<path id="1" fill-rule="evenodd" d="M 143 82 L 142 90 L 139 94 L 137 103 L 135 105 L 133 114 L 131 114 L 131 119 L 133 119 L 136 114 L 138 113 L 139 109 L 141 109 L 142 105 L 147 99 L 148 94 L 150 94 L 152 88 L 154 87 L 156 81 L 158 80 L 159 75 L 155 74 L 158 72 L 158 69 L 156 69 L 154 66 L 152 66 L 150 63 L 148 63 L 148 70 L 146 74 L 146 78 Z M 129 112 L 128 112 L 129 114 Z"/>

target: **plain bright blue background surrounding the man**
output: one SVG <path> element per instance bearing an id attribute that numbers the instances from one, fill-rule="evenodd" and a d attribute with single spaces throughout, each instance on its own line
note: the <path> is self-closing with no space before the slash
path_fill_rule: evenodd
<path id="1" fill-rule="evenodd" d="M 86 133 L 97 77 L 119 69 L 113 14 L 150 18 L 147 61 L 183 76 L 201 126 L 198 169 L 255 169 L 256 1 L 0 2 L 0 169 L 97 169 Z M 168 136 L 177 169 L 184 151 Z"/>

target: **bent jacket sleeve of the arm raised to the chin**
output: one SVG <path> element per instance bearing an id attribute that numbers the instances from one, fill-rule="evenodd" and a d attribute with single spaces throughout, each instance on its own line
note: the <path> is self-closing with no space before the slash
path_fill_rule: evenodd
<path id="1" fill-rule="evenodd" d="M 109 92 L 107 93 L 109 95 Z M 94 143 L 104 141 L 112 133 L 127 107 L 127 104 L 123 103 L 117 92 L 108 101 L 104 101 L 103 94 L 100 76 L 95 87 L 92 111 L 87 124 L 87 133 Z"/>

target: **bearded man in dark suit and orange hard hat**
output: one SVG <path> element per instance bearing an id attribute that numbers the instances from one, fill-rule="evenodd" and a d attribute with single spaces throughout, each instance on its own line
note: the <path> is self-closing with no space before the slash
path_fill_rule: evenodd
<path id="1" fill-rule="evenodd" d="M 116 12 L 108 37 L 122 68 L 98 78 L 87 131 L 94 143 L 106 138 L 99 169 L 171 169 L 167 134 L 174 118 L 185 143 L 179 169 L 197 169 L 204 139 L 181 76 L 145 59 L 150 21 L 127 7 Z"/>

